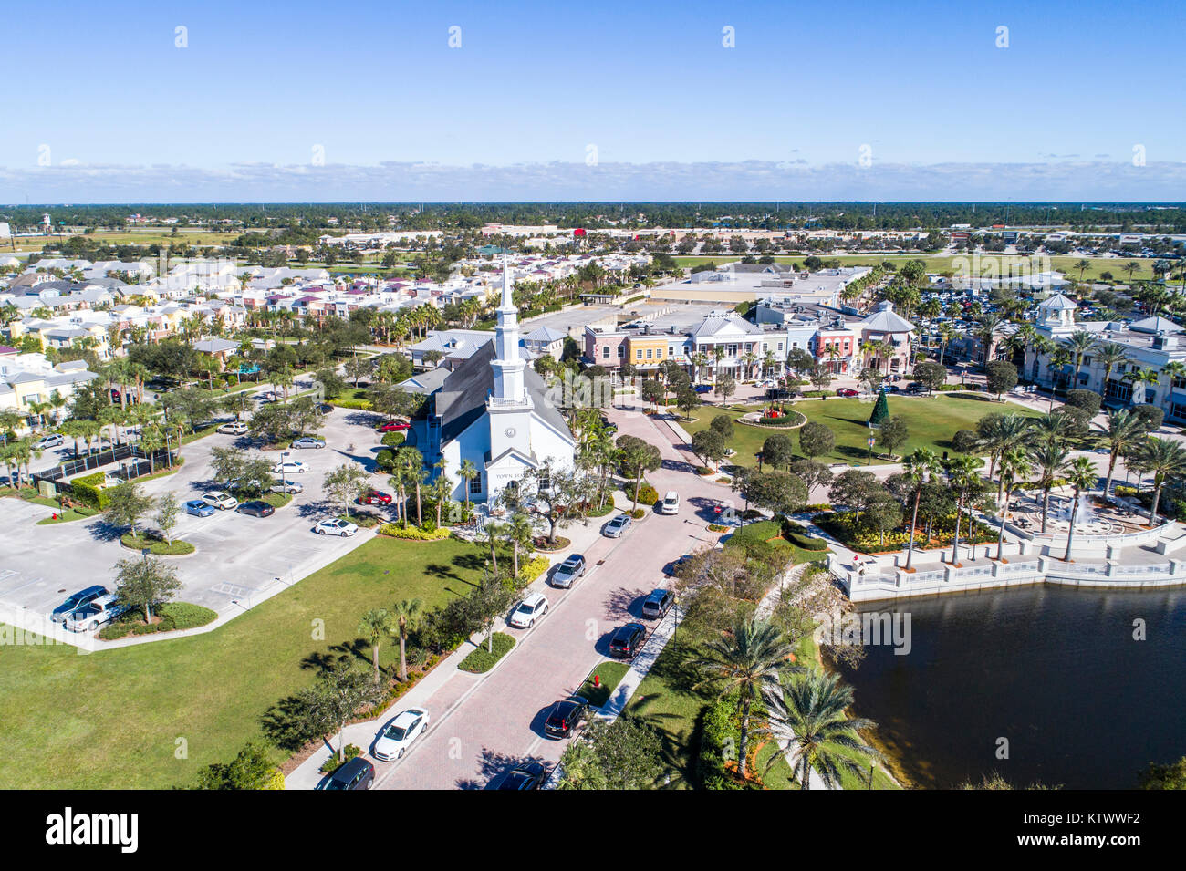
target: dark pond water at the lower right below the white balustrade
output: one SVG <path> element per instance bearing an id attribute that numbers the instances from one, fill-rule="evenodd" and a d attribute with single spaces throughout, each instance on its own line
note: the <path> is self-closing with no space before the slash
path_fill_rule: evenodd
<path id="1" fill-rule="evenodd" d="M 997 771 L 1015 786 L 1127 789 L 1149 762 L 1186 755 L 1184 590 L 1032 587 L 861 610 L 911 614 L 908 655 L 871 647 L 841 671 L 917 786 Z"/>

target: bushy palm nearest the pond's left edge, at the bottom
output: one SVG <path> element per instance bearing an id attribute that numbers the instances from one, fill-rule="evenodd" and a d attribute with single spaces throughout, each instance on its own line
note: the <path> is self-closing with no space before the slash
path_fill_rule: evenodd
<path id="1" fill-rule="evenodd" d="M 795 748 L 799 789 L 811 788 L 811 770 L 829 789 L 840 783 L 842 770 L 863 771 L 860 757 L 880 754 L 860 737 L 861 729 L 876 726 L 871 719 L 849 718 L 844 710 L 853 704 L 853 687 L 840 684 L 835 674 L 808 671 L 779 692 L 766 692 L 770 731 L 779 745 Z M 779 754 L 766 763 L 767 770 Z"/>

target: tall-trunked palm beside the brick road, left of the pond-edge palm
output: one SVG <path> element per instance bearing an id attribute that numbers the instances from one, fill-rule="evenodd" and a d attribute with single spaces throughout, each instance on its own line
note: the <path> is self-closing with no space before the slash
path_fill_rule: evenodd
<path id="1" fill-rule="evenodd" d="M 761 690 L 777 690 L 779 675 L 792 671 L 791 655 L 795 652 L 780 629 L 772 623 L 751 615 L 739 619 L 733 632 L 704 647 L 703 655 L 695 658 L 691 666 L 704 677 L 696 684 L 715 684 L 720 694 L 738 691 L 741 713 L 741 741 L 738 745 L 738 773 L 746 776 L 746 749 L 750 741 L 750 712 Z"/>

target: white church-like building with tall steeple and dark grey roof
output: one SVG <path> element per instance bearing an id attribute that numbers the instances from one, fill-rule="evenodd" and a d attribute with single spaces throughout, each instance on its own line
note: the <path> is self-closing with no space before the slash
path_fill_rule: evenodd
<path id="1" fill-rule="evenodd" d="M 570 470 L 575 440 L 548 388 L 528 366 L 519 346 L 518 310 L 503 261 L 503 292 L 495 338 L 479 347 L 428 397 L 428 414 L 413 423 L 408 443 L 433 467 L 441 457 L 457 482 L 453 499 L 465 499 L 461 463 L 480 473 L 470 482 L 470 501 L 490 502 L 511 481 L 544 465 Z"/>

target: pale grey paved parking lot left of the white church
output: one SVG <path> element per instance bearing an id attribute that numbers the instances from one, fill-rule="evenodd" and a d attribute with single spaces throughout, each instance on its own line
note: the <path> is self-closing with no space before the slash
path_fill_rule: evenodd
<path id="1" fill-rule="evenodd" d="M 203 604 L 219 614 L 250 608 L 280 585 L 295 583 L 372 536 L 366 530 L 352 538 L 318 536 L 312 526 L 337 517 L 342 510 L 323 494 L 327 472 L 344 462 L 357 462 L 374 472 L 380 448 L 380 436 L 374 429 L 377 420 L 369 412 L 346 409 L 326 415 L 319 434 L 326 447 L 292 450 L 287 457 L 310 466 L 306 473 L 286 475 L 304 485 L 304 492 L 270 517 L 247 517 L 235 511 L 216 511 L 211 517 L 183 513 L 173 537 L 190 542 L 197 551 L 185 557 L 164 557 L 177 566 L 184 584 L 178 600 Z M 173 491 L 178 501 L 184 502 L 217 489 L 221 482 L 212 480 L 211 449 L 230 444 L 257 448 L 250 440 L 231 435 L 205 436 L 183 449 L 185 463 L 176 474 L 146 481 L 145 491 L 153 495 Z M 280 460 L 278 450 L 264 455 Z M 383 488 L 385 481 L 385 475 L 375 474 L 371 483 Z M 378 507 L 370 510 L 385 512 Z M 101 517 L 36 525 L 51 513 L 51 508 L 19 499 L 0 499 L 0 524 L 6 530 L 0 555 L 0 604 L 49 613 L 77 589 L 95 583 L 109 585 L 116 561 L 136 553 L 120 544 L 121 531 L 109 527 Z M 144 525 L 151 527 L 151 519 Z"/>

